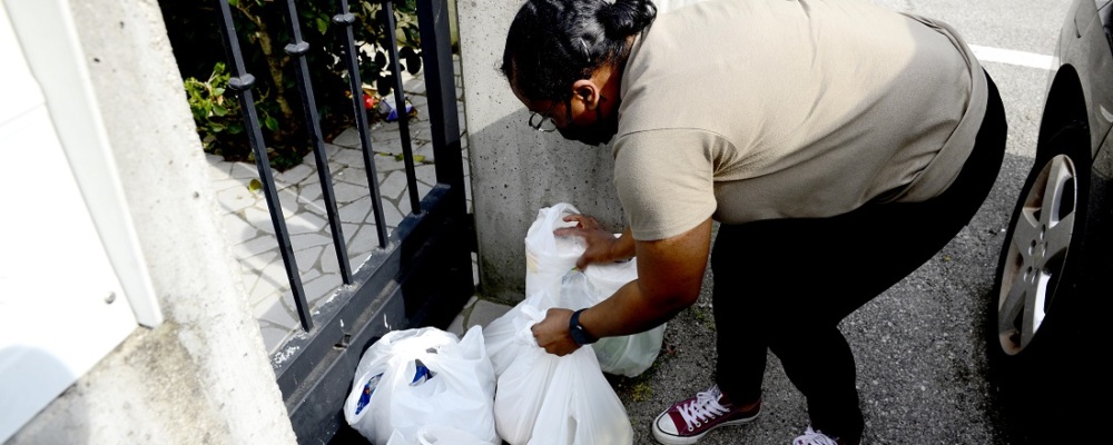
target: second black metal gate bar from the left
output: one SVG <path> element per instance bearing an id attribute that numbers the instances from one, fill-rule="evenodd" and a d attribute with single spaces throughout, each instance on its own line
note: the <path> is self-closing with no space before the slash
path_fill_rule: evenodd
<path id="1" fill-rule="evenodd" d="M 347 256 L 347 245 L 344 243 L 344 231 L 341 218 L 336 211 L 336 197 L 333 191 L 332 175 L 328 172 L 328 156 L 322 142 L 321 119 L 317 116 L 317 102 L 313 97 L 313 85 L 309 82 L 309 65 L 305 53 L 309 43 L 302 40 L 302 26 L 297 20 L 297 7 L 294 0 L 286 0 L 286 22 L 289 24 L 293 41 L 286 46 L 286 53 L 297 60 L 297 90 L 302 95 L 302 108 L 305 110 L 305 122 L 309 126 L 309 141 L 317 160 L 317 178 L 321 179 L 321 192 L 325 200 L 325 211 L 328 214 L 328 227 L 333 235 L 333 246 L 336 250 L 336 263 L 341 268 L 341 278 L 345 285 L 352 284 L 352 265 Z M 298 307 L 301 313 L 302 308 Z M 302 316 L 301 314 L 298 314 Z"/>

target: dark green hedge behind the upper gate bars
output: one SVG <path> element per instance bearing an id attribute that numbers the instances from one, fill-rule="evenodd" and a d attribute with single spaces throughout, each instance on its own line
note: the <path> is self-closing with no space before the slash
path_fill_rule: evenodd
<path id="1" fill-rule="evenodd" d="M 298 165 L 312 150 L 297 87 L 294 59 L 284 48 L 293 40 L 282 0 L 230 0 L 239 44 L 248 72 L 255 76 L 256 110 L 272 167 L 282 171 Z M 414 0 L 394 3 L 402 69 L 421 69 L 421 41 Z M 229 70 L 219 30 L 216 0 L 161 0 L 159 6 L 178 61 L 184 88 L 206 152 L 227 160 L 254 161 L 239 113 L 238 98 L 227 89 Z M 344 27 L 332 22 L 336 1 L 297 1 L 317 111 L 326 140 L 351 126 L 354 117 L 346 59 Z M 392 93 L 387 71 L 388 34 L 378 1 L 353 0 L 354 27 L 359 48 L 359 77 L 367 95 Z M 362 43 L 362 44 L 361 44 Z M 393 99 L 392 99 L 393 100 Z M 377 113 L 370 112 L 371 119 Z"/>

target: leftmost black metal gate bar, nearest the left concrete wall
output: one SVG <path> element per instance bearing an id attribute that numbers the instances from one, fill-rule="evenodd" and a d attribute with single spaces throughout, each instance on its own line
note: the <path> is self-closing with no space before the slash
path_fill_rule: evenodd
<path id="1" fill-rule="evenodd" d="M 263 142 L 259 117 L 255 111 L 255 95 L 252 93 L 255 77 L 248 73 L 244 66 L 244 56 L 239 51 L 236 24 L 232 20 L 232 8 L 228 7 L 228 0 L 219 0 L 219 3 L 220 31 L 224 33 L 225 50 L 232 61 L 233 77 L 228 79 L 228 88 L 239 96 L 239 106 L 244 112 L 244 120 L 246 120 L 247 139 L 255 152 L 255 165 L 259 169 L 263 192 L 270 210 L 270 221 L 275 225 L 275 235 L 278 238 L 278 249 L 282 251 L 283 264 L 286 266 L 286 276 L 289 278 L 290 293 L 294 295 L 294 304 L 297 306 L 302 328 L 309 332 L 313 329 L 309 305 L 305 301 L 305 289 L 302 287 L 302 277 L 298 275 L 297 261 L 294 259 L 294 251 L 290 248 L 289 231 L 286 230 L 286 219 L 283 218 L 282 204 L 278 201 L 278 191 L 275 189 L 275 178 L 270 172 L 270 160 L 267 159 L 267 149 Z"/>

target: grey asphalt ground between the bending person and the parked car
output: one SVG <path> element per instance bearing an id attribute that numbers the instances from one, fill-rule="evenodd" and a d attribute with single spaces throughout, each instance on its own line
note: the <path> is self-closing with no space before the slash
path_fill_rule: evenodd
<path id="1" fill-rule="evenodd" d="M 1006 415 L 998 387 L 987 376 L 983 329 L 1009 214 L 1032 166 L 1051 75 L 1044 67 L 1071 2 L 877 2 L 951 23 L 978 47 L 979 59 L 1002 92 L 1009 134 L 997 184 L 971 224 L 930 261 L 841 324 L 858 364 L 864 443 L 1044 443 L 1033 437 L 1046 433 L 1038 432 L 1045 425 Z M 830 253 L 830 260 L 838 261 L 838 253 Z M 800 274 L 807 278 L 807 270 Z M 654 443 L 652 419 L 711 384 L 715 326 L 709 303 L 705 293 L 696 307 L 670 323 L 666 344 L 671 352 L 662 354 L 653 368 L 638 378 L 612 379 L 633 424 L 634 443 Z M 774 356 L 765 389 L 758 421 L 720 428 L 700 443 L 790 443 L 808 417 L 802 397 Z"/>

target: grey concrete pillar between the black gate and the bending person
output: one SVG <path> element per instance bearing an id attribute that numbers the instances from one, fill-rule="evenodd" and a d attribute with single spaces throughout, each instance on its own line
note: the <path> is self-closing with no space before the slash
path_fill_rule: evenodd
<path id="1" fill-rule="evenodd" d="M 525 230 L 538 210 L 565 201 L 622 228 L 610 147 L 569 142 L 526 126 L 529 112 L 499 70 L 519 0 L 460 0 L 462 76 L 480 291 L 516 301 L 525 287 Z"/>

